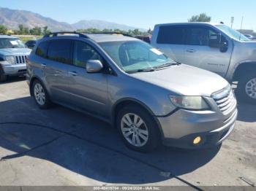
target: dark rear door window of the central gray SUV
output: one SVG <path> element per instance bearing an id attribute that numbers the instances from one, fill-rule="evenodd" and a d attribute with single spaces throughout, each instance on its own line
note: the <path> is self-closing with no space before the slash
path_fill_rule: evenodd
<path id="1" fill-rule="evenodd" d="M 50 41 L 48 58 L 52 61 L 72 64 L 72 41 L 69 39 Z"/>

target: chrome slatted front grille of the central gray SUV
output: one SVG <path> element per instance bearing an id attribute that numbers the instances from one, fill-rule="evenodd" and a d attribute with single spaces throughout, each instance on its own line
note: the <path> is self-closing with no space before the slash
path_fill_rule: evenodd
<path id="1" fill-rule="evenodd" d="M 230 86 L 218 93 L 214 93 L 212 98 L 214 98 L 219 110 L 222 111 L 223 114 L 228 114 L 236 106 L 236 98 Z"/>

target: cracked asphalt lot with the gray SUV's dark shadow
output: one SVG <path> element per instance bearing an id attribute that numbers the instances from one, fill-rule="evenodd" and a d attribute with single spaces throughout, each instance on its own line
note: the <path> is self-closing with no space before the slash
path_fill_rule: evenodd
<path id="1" fill-rule="evenodd" d="M 253 186 L 255 140 L 256 106 L 239 104 L 219 147 L 133 152 L 105 122 L 62 106 L 38 109 L 23 78 L 0 84 L 1 186 Z"/>

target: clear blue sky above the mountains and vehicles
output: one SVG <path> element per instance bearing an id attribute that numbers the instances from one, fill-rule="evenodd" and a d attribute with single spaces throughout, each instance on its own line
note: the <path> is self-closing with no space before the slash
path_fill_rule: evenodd
<path id="1" fill-rule="evenodd" d="M 186 22 L 192 15 L 206 12 L 213 22 L 223 21 L 234 28 L 256 31 L 256 1 L 238 0 L 1 0 L 0 7 L 26 9 L 67 23 L 78 20 L 107 20 L 138 28 L 153 28 L 156 23 Z"/>

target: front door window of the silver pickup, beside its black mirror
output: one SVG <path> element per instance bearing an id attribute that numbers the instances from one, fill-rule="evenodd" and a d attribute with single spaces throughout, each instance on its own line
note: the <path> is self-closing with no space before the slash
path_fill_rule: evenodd
<path id="1" fill-rule="evenodd" d="M 187 43 L 189 45 L 208 46 L 211 34 L 217 34 L 211 28 L 192 26 L 188 28 Z"/>

